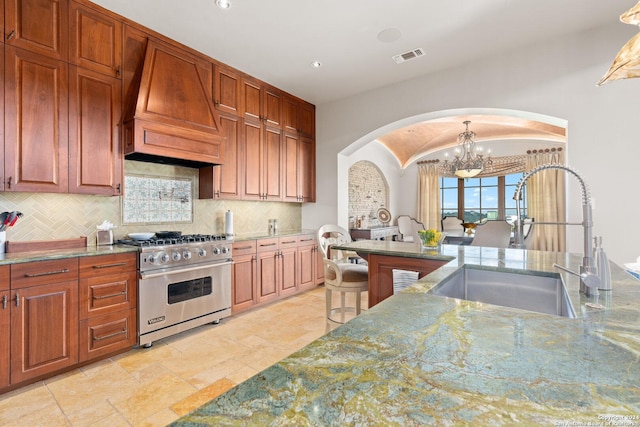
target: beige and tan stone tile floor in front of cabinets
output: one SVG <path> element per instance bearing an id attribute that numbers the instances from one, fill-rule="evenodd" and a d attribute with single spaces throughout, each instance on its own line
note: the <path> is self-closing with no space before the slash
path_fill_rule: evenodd
<path id="1" fill-rule="evenodd" d="M 324 310 L 319 287 L 11 391 L 0 426 L 167 425 L 339 326 Z"/>

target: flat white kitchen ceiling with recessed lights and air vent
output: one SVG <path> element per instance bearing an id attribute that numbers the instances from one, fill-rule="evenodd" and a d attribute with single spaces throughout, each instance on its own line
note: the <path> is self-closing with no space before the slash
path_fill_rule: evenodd
<path id="1" fill-rule="evenodd" d="M 215 0 L 92 1 L 316 105 L 611 24 L 635 3 L 230 0 L 222 10 Z M 380 41 L 386 29 L 400 37 Z M 425 56 L 392 60 L 416 48 Z M 316 60 L 322 67 L 311 67 Z"/>

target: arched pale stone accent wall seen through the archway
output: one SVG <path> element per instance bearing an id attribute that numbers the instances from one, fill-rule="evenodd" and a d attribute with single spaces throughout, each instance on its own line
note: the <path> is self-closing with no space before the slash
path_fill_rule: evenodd
<path id="1" fill-rule="evenodd" d="M 363 216 L 361 228 L 382 225 L 376 214 L 388 204 L 389 185 L 380 169 L 367 160 L 354 163 L 349 168 L 349 227 Z"/>

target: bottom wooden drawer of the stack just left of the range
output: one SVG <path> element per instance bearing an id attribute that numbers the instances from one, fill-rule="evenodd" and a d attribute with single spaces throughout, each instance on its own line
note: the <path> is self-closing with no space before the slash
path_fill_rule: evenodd
<path id="1" fill-rule="evenodd" d="M 137 342 L 136 310 L 123 310 L 80 321 L 80 361 L 85 362 Z"/>

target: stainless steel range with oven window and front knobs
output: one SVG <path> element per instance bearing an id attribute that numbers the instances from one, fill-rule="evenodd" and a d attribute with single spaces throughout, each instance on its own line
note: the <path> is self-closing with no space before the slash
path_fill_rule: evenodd
<path id="1" fill-rule="evenodd" d="M 140 247 L 138 343 L 153 341 L 231 315 L 231 241 L 188 235 L 124 240 Z"/>

